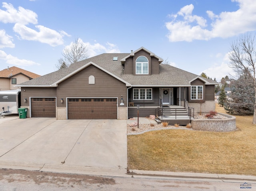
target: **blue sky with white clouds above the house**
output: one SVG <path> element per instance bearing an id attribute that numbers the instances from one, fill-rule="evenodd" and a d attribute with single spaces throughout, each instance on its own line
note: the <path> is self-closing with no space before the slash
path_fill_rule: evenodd
<path id="1" fill-rule="evenodd" d="M 255 0 L 6 0 L 0 4 L 0 70 L 45 75 L 82 39 L 90 57 L 140 47 L 220 81 L 230 45 L 256 30 Z"/>

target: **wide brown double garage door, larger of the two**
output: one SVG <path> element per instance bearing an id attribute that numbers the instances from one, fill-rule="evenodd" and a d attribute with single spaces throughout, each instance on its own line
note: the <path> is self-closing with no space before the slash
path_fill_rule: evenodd
<path id="1" fill-rule="evenodd" d="M 117 119 L 117 100 L 68 98 L 68 119 Z"/>

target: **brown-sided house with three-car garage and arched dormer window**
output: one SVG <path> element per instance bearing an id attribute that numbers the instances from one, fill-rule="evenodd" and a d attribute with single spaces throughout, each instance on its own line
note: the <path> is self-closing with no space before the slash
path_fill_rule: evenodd
<path id="1" fill-rule="evenodd" d="M 163 108 L 173 108 L 175 117 L 180 108 L 199 112 L 200 102 L 205 112 L 214 110 L 215 81 L 162 61 L 144 47 L 103 53 L 17 85 L 22 107 L 30 117 L 57 120 L 128 119 L 137 116 L 137 105 L 140 116 L 163 116 Z"/>

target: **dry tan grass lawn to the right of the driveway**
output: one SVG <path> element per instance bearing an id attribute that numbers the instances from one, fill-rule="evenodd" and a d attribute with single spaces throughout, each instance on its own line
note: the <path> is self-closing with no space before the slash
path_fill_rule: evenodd
<path id="1" fill-rule="evenodd" d="M 216 111 L 226 113 L 216 105 Z M 130 169 L 256 175 L 256 125 L 236 116 L 234 132 L 159 130 L 128 136 Z"/>

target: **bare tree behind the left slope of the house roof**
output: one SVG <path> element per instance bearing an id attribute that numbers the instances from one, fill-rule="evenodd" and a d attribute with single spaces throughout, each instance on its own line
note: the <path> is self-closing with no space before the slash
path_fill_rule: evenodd
<path id="1" fill-rule="evenodd" d="M 58 70 L 88 58 L 86 45 L 80 38 L 76 38 L 74 42 L 65 47 L 62 56 L 63 58 L 58 59 L 58 63 L 55 65 Z"/>

